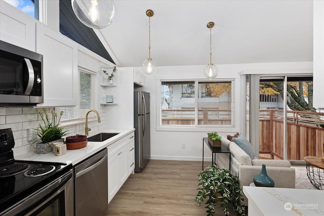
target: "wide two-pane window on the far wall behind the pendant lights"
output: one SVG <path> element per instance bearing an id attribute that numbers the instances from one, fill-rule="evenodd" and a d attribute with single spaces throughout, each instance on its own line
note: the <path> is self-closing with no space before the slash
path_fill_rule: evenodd
<path id="1" fill-rule="evenodd" d="M 234 81 L 161 81 L 161 126 L 234 125 Z"/>

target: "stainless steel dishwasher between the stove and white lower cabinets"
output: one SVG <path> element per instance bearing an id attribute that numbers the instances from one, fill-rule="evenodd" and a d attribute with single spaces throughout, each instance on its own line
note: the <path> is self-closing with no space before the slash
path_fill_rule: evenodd
<path id="1" fill-rule="evenodd" d="M 75 215 L 104 215 L 108 208 L 107 148 L 74 167 Z"/>

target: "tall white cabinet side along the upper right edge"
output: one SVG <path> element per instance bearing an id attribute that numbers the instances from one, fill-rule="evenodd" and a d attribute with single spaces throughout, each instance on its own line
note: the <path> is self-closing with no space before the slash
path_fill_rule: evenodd
<path id="1" fill-rule="evenodd" d="M 314 1 L 313 106 L 324 109 L 324 2 Z"/>

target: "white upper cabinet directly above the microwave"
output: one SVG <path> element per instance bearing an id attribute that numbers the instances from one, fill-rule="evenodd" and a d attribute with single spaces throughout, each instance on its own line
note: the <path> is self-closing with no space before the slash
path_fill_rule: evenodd
<path id="1" fill-rule="evenodd" d="M 0 40 L 35 52 L 35 22 L 5 1 L 0 1 Z"/>

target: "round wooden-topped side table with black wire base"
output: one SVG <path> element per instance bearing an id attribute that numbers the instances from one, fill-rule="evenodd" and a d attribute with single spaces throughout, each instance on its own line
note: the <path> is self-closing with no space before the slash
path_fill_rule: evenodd
<path id="1" fill-rule="evenodd" d="M 318 190 L 324 190 L 324 162 L 321 157 L 306 156 L 307 177 Z"/>

